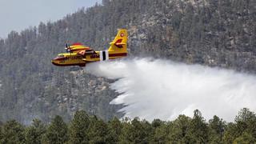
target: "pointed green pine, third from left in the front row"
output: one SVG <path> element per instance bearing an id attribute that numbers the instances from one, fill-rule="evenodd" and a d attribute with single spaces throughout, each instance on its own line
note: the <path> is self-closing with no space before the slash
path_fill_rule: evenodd
<path id="1" fill-rule="evenodd" d="M 62 117 L 57 115 L 46 130 L 44 142 L 61 144 L 68 141 L 67 126 Z"/>

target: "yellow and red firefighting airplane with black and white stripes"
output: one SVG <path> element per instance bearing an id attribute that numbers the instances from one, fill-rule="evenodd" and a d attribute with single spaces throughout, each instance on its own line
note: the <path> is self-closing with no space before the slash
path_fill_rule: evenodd
<path id="1" fill-rule="evenodd" d="M 72 46 L 66 45 L 66 53 L 58 54 L 51 62 L 55 66 L 86 66 L 89 62 L 106 61 L 108 59 L 122 58 L 127 56 L 127 30 L 118 30 L 110 48 L 103 51 L 94 51 L 81 43 L 74 43 Z"/>

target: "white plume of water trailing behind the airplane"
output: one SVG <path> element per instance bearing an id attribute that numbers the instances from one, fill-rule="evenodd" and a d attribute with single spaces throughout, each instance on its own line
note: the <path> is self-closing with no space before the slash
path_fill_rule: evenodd
<path id="1" fill-rule="evenodd" d="M 217 115 L 231 122 L 243 107 L 256 110 L 254 75 L 151 58 L 86 67 L 91 74 L 118 78 L 111 89 L 120 95 L 110 104 L 124 104 L 125 117 L 174 120 L 179 114 L 191 117 L 198 109 L 206 119 Z"/>

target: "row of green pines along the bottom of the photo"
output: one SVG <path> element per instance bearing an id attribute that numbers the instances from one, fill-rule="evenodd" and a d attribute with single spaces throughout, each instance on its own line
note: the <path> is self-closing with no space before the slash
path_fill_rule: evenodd
<path id="1" fill-rule="evenodd" d="M 50 123 L 34 119 L 30 126 L 10 120 L 0 124 L 0 143 L 255 143 L 256 115 L 243 108 L 234 122 L 214 115 L 208 122 L 199 110 L 193 118 L 173 121 L 113 118 L 105 122 L 78 110 L 70 122 L 56 115 Z"/>

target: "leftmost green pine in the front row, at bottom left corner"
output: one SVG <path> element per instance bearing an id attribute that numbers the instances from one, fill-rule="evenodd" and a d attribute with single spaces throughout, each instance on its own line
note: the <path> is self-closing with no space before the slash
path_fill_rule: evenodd
<path id="1" fill-rule="evenodd" d="M 24 133 L 24 126 L 15 120 L 10 120 L 3 126 L 2 143 L 24 143 Z"/>

